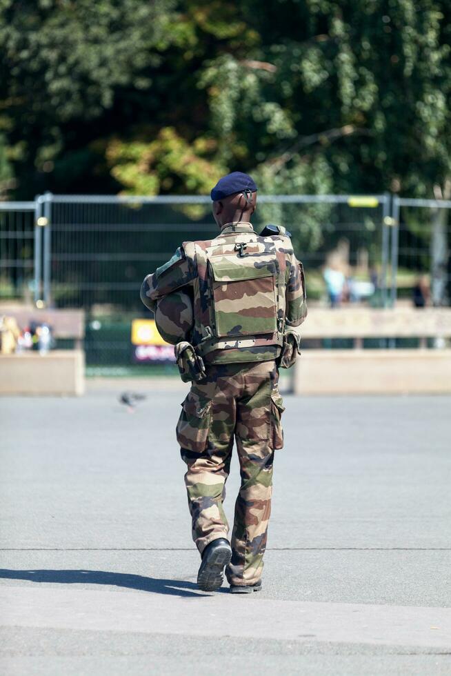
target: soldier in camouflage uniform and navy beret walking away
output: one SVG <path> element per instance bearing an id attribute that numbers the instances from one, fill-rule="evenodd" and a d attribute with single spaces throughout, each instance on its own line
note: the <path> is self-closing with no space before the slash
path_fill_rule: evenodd
<path id="1" fill-rule="evenodd" d="M 144 279 L 141 299 L 151 310 L 159 306 L 160 315 L 163 304 L 176 310 L 166 336 L 177 334 L 177 312 L 184 317 L 175 352 L 192 386 L 177 440 L 202 558 L 197 583 L 219 588 L 226 567 L 230 591 L 250 593 L 261 588 L 274 450 L 283 447 L 279 366 L 297 356 L 299 336 L 290 327 L 307 314 L 305 283 L 289 233 L 277 226 L 254 232 L 257 186 L 250 176 L 221 178 L 211 197 L 219 235 L 184 242 Z M 223 499 L 234 437 L 241 488 L 229 543 Z"/>

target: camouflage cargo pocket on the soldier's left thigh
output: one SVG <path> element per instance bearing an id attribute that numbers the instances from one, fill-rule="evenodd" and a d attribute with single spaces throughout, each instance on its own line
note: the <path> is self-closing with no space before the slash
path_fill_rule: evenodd
<path id="1" fill-rule="evenodd" d="M 212 401 L 190 392 L 182 407 L 176 430 L 179 446 L 203 453 L 208 444 Z"/>

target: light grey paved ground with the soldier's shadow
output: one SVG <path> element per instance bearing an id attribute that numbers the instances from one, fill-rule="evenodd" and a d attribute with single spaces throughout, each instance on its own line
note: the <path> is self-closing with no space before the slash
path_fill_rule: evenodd
<path id="1" fill-rule="evenodd" d="M 183 397 L 0 399 L 1 672 L 450 674 L 451 398 L 285 397 L 249 598 L 195 586 Z"/>

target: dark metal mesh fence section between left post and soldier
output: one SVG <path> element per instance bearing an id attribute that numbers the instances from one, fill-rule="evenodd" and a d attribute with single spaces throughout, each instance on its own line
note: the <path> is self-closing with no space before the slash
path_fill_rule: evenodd
<path id="1" fill-rule="evenodd" d="M 209 236 L 205 205 L 185 207 L 188 212 L 183 205 L 136 201 L 52 203 L 51 302 L 94 313 L 99 306 L 141 310 L 143 277 L 183 239 Z"/>

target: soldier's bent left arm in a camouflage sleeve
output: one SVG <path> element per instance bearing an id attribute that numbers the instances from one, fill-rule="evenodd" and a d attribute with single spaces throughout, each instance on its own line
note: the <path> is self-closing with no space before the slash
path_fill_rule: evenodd
<path id="1" fill-rule="evenodd" d="M 154 311 L 157 300 L 168 293 L 190 284 L 194 279 L 194 266 L 186 257 L 183 246 L 179 246 L 170 261 L 157 268 L 153 275 L 147 275 L 141 286 L 141 301 Z"/>

